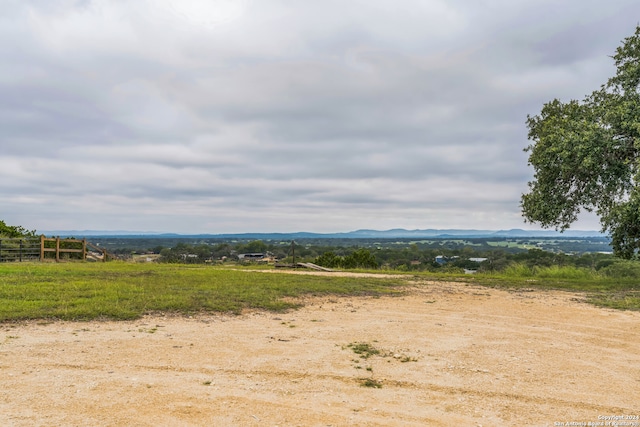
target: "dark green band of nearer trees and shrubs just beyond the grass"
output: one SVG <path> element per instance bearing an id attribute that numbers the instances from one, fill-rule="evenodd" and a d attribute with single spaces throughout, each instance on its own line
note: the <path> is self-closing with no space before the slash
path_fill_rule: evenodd
<path id="1" fill-rule="evenodd" d="M 410 244 L 399 248 L 362 248 L 358 246 L 291 246 L 263 242 L 260 240 L 240 243 L 195 244 L 178 243 L 171 248 L 154 248 L 159 253 L 159 262 L 169 263 L 239 263 L 241 254 L 264 254 L 269 261 L 290 263 L 295 251 L 297 262 L 313 262 L 329 268 L 387 269 L 397 271 L 478 272 L 503 271 L 514 265 L 526 268 L 571 266 L 593 270 L 606 268 L 619 260 L 606 253 L 583 253 L 570 255 L 541 249 L 514 252 L 508 248 L 481 250 L 474 246 L 455 249 L 430 248 Z"/>

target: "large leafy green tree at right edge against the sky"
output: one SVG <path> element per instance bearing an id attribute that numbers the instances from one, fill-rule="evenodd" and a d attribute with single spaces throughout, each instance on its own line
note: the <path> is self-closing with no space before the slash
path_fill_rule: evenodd
<path id="1" fill-rule="evenodd" d="M 583 101 L 545 104 L 527 116 L 534 180 L 526 221 L 564 231 L 581 209 L 600 217 L 614 253 L 640 250 L 640 26 L 613 56 L 616 75 Z"/>

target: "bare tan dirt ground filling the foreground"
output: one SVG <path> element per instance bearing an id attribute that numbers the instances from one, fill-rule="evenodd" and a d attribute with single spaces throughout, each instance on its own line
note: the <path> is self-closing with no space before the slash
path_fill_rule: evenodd
<path id="1" fill-rule="evenodd" d="M 553 426 L 640 415 L 640 313 L 561 292 L 407 291 L 309 298 L 286 314 L 2 324 L 0 425 Z M 381 355 L 361 359 L 349 347 L 361 342 Z"/>

